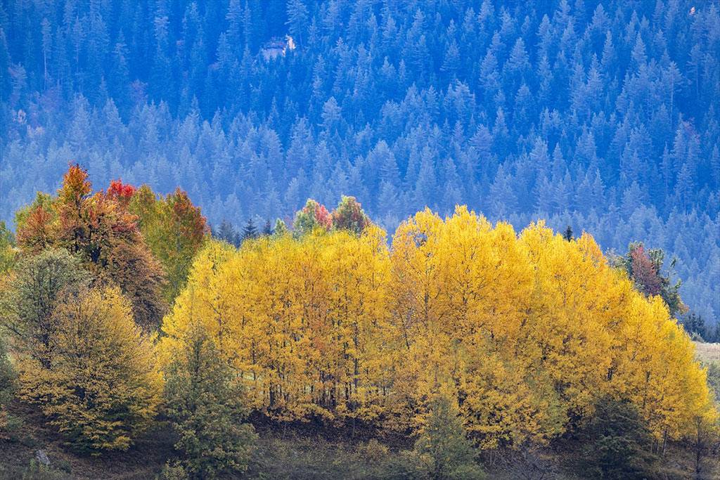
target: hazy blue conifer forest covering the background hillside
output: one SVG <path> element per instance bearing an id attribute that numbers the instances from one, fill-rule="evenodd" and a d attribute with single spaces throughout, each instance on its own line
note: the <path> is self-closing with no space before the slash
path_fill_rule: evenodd
<path id="1" fill-rule="evenodd" d="M 717 1 L 0 1 L 9 224 L 69 160 L 214 225 L 468 204 L 663 248 L 715 324 L 719 122 Z"/>

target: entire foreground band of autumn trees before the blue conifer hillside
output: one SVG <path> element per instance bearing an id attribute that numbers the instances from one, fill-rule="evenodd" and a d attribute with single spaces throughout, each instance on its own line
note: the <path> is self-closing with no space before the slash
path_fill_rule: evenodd
<path id="1" fill-rule="evenodd" d="M 94 190 L 78 165 L 15 224 L 0 245 L 15 456 L 30 419 L 86 459 L 163 432 L 164 465 L 132 478 L 262 476 L 256 425 L 361 442 L 370 463 L 348 478 L 665 478 L 690 454 L 696 478 L 716 473 L 720 371 L 675 319 L 661 250 L 608 258 L 587 233 L 464 206 L 388 239 L 351 196 L 212 235 L 184 191 Z M 78 474 L 42 452 L 0 474 Z"/>

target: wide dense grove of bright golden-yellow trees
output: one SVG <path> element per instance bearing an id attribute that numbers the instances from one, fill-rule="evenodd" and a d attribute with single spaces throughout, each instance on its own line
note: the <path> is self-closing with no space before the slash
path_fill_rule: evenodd
<path id="1" fill-rule="evenodd" d="M 498 448 L 557 438 L 600 397 L 635 405 L 658 441 L 716 418 L 688 336 L 592 237 L 518 235 L 460 207 L 419 212 L 390 249 L 372 225 L 212 242 L 163 322 L 163 362 L 195 322 L 250 406 L 281 420 L 405 430 L 446 391 Z"/>

